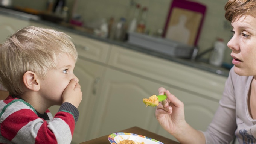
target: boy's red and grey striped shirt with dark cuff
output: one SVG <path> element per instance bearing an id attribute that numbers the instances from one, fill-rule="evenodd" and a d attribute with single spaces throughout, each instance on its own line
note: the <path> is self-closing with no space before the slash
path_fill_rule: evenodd
<path id="1" fill-rule="evenodd" d="M 0 101 L 0 143 L 70 144 L 78 116 L 71 103 L 62 103 L 53 117 L 9 95 Z"/>

